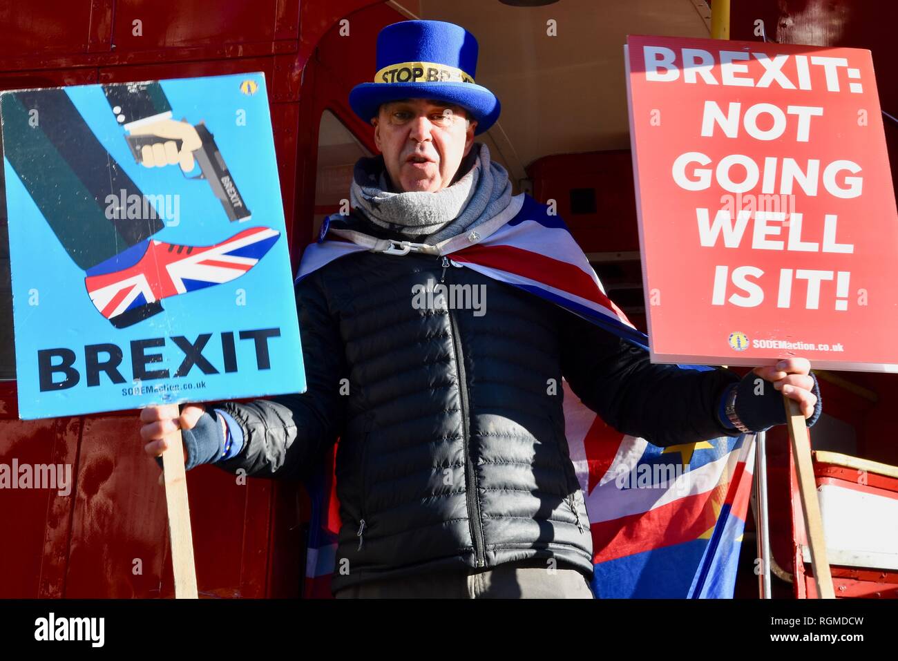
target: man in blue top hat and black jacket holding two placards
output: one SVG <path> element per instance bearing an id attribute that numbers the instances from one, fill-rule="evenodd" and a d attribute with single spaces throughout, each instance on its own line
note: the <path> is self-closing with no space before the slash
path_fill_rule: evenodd
<path id="1" fill-rule="evenodd" d="M 180 419 L 141 415 L 148 454 L 180 427 L 188 467 L 264 477 L 304 477 L 339 436 L 338 597 L 590 598 L 593 548 L 563 394 L 547 388 L 562 376 L 608 424 L 656 445 L 780 424 L 779 389 L 810 424 L 820 413 L 804 359 L 742 381 L 652 365 L 623 339 L 437 250 L 479 241 L 509 209 L 518 219 L 539 207 L 515 207 L 506 171 L 474 142 L 499 113 L 473 82 L 476 57 L 476 41 L 451 23 L 381 32 L 375 82 L 350 103 L 382 155 L 357 163 L 353 213 L 330 225 L 391 249 L 355 251 L 299 279 L 308 391 L 189 405 Z M 416 305 L 412 292 L 436 280 L 482 292 L 484 313 Z M 752 394 L 758 376 L 774 383 L 763 396 Z"/>

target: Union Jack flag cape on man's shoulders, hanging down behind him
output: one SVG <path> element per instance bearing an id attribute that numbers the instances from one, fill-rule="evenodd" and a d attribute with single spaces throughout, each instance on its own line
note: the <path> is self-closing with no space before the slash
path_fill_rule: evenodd
<path id="1" fill-rule="evenodd" d="M 329 230 L 328 220 L 318 242 L 304 251 L 296 281 L 353 252 L 407 248 Z M 559 304 L 647 351 L 647 336 L 608 298 L 584 252 L 549 207 L 518 195 L 476 233 L 427 250 Z M 564 389 L 566 436 L 593 537 L 594 595 L 732 597 L 752 489 L 754 435 L 657 447 L 609 427 L 567 382 Z M 339 532 L 334 456 L 331 449 L 306 484 L 312 503 L 306 597 L 331 596 Z"/>

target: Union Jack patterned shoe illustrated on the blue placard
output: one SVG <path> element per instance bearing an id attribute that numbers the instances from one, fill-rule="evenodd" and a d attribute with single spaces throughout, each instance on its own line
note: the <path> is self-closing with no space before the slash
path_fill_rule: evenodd
<path id="1" fill-rule="evenodd" d="M 240 278 L 278 236 L 269 227 L 251 227 L 209 246 L 147 239 L 87 270 L 84 285 L 97 310 L 125 328 L 161 313 L 163 298 Z"/>

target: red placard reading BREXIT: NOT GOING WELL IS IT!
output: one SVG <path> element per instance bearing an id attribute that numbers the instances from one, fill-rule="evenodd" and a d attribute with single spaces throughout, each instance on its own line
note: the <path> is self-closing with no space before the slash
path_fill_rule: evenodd
<path id="1" fill-rule="evenodd" d="M 627 43 L 652 361 L 898 372 L 898 216 L 870 52 Z"/>

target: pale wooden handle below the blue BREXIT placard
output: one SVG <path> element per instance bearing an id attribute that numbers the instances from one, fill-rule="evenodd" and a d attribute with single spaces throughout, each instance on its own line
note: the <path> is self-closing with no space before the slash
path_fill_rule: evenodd
<path id="1" fill-rule="evenodd" d="M 163 412 L 172 419 L 180 417 L 177 404 L 166 404 Z M 197 570 L 193 560 L 193 536 L 190 533 L 190 508 L 187 499 L 187 474 L 180 429 L 165 436 L 168 448 L 163 452 L 165 505 L 169 516 L 172 542 L 172 570 L 176 599 L 197 598 Z"/>

